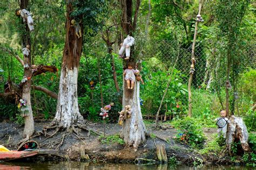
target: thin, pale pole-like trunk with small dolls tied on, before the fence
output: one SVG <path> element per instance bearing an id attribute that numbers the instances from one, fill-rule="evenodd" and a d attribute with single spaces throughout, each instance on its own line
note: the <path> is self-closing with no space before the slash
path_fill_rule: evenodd
<path id="1" fill-rule="evenodd" d="M 198 15 L 201 13 L 202 9 L 202 1 L 199 0 L 199 10 L 198 10 Z M 188 116 L 192 116 L 192 94 L 191 94 L 191 84 L 192 84 L 192 79 L 193 79 L 193 73 L 194 73 L 194 65 L 195 65 L 195 56 L 194 56 L 194 47 L 196 45 L 196 39 L 197 39 L 197 29 L 198 29 L 198 22 L 196 22 L 196 27 L 194 28 L 194 39 L 193 39 L 193 44 L 192 44 L 192 60 L 191 60 L 191 70 L 190 70 L 190 78 L 188 79 Z"/>

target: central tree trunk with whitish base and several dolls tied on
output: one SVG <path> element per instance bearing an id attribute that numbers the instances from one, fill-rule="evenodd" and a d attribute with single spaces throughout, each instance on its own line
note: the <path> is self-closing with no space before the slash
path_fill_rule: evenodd
<path id="1" fill-rule="evenodd" d="M 120 0 L 122 6 L 122 28 L 123 31 L 132 36 L 132 32 L 136 28 L 138 10 L 140 0 L 136 2 L 136 10 L 134 13 L 132 24 L 132 0 Z M 132 46 L 133 47 L 133 46 Z M 131 48 L 130 62 L 133 62 L 135 67 L 134 48 Z M 124 66 L 126 63 L 124 62 Z M 132 114 L 130 118 L 125 119 L 120 136 L 124 138 L 125 144 L 133 146 L 134 151 L 137 151 L 139 144 L 146 140 L 146 128 L 142 119 L 142 111 L 139 102 L 139 82 L 134 82 L 133 90 L 127 89 L 126 81 L 123 77 L 123 108 L 125 105 L 131 105 Z"/>

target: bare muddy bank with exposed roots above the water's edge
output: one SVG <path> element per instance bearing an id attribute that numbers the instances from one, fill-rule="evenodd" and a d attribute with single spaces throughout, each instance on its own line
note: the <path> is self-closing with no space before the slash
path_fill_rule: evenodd
<path id="1" fill-rule="evenodd" d="M 49 125 L 50 122 L 36 122 L 36 131 L 42 131 L 44 126 Z M 175 158 L 177 161 L 186 164 L 192 164 L 198 158 L 205 162 L 211 162 L 215 158 L 204 158 L 202 155 L 196 153 L 189 146 L 180 144 L 173 140 L 176 136 L 176 129 L 170 124 L 163 125 L 163 129 L 155 130 L 153 124 L 146 125 L 149 133 L 154 133 L 156 136 L 163 137 L 169 142 L 159 138 L 147 138 L 145 144 L 141 145 L 136 152 L 132 148 L 125 147 L 117 143 L 104 144 L 99 141 L 99 136 L 95 133 L 88 133 L 87 131 L 79 131 L 79 135 L 73 132 L 57 132 L 49 138 L 55 130 L 48 131 L 48 135 L 33 137 L 30 140 L 36 140 L 39 148 L 58 150 L 57 157 L 52 156 L 50 159 L 68 159 L 80 160 L 80 150 L 84 147 L 85 154 L 88 154 L 93 161 L 103 162 L 134 162 L 137 158 L 145 158 L 150 160 L 157 160 L 156 145 L 164 144 L 168 158 Z M 103 124 L 95 123 L 91 128 L 103 132 Z M 106 136 L 112 134 L 119 134 L 122 126 L 118 124 L 106 124 Z M 206 136 L 215 133 L 215 129 L 204 129 Z M 14 123 L 0 123 L 0 144 L 16 150 L 17 143 L 22 139 L 23 126 Z M 35 133 L 36 134 L 36 133 Z M 49 158 L 49 157 L 48 157 Z"/>

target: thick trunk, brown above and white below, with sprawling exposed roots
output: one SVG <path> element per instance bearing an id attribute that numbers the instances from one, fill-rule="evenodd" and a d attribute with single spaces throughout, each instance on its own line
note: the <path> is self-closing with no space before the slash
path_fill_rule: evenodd
<path id="1" fill-rule="evenodd" d="M 58 124 L 59 128 L 69 130 L 71 125 L 84 122 L 84 118 L 79 112 L 77 99 L 77 77 L 82 54 L 83 34 L 78 38 L 75 27 L 71 27 L 73 18 L 70 17 L 72 12 L 70 1 L 66 5 L 66 9 L 66 40 L 60 73 L 57 111 L 52 124 Z M 83 25 L 79 25 L 83 32 Z"/>

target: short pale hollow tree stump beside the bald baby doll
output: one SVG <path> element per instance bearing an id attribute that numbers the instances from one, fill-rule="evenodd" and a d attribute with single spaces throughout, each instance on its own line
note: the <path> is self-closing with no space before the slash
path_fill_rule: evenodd
<path id="1" fill-rule="evenodd" d="M 250 151 L 250 147 L 248 144 L 248 131 L 244 121 L 242 121 L 241 117 L 235 117 L 234 115 L 229 118 L 230 123 L 227 126 L 227 135 L 226 135 L 226 145 L 228 147 L 228 152 L 231 153 L 231 146 L 236 140 L 240 140 L 242 149 L 244 151 Z"/>

